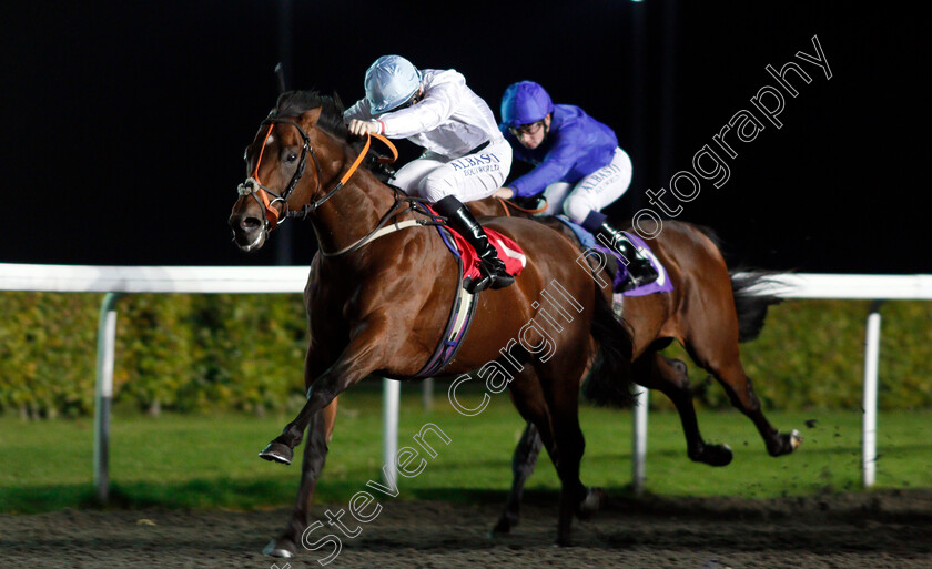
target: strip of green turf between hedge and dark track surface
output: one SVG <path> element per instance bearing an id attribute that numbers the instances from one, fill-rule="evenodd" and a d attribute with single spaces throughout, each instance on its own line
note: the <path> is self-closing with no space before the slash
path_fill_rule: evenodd
<path id="1" fill-rule="evenodd" d="M 655 395 L 656 397 L 657 395 Z M 472 396 L 470 396 L 472 397 Z M 478 398 L 468 399 L 475 405 Z M 290 504 L 300 467 L 270 464 L 256 453 L 290 417 L 164 415 L 150 418 L 118 410 L 112 419 L 110 476 L 114 504 L 192 508 L 263 508 Z M 699 410 L 708 441 L 727 443 L 733 463 L 711 468 L 686 457 L 676 414 L 649 419 L 647 489 L 658 495 L 773 497 L 861 488 L 861 413 L 771 414 L 781 429 L 802 431 L 794 455 L 771 458 L 751 423 L 736 411 Z M 877 488 L 932 487 L 929 425 L 932 411 L 882 413 L 879 418 Z M 807 420 L 814 420 L 812 428 Z M 475 417 L 456 413 L 437 393 L 434 409 L 422 408 L 419 386 L 405 385 L 399 446 L 427 423 L 452 440 L 432 438 L 438 456 L 416 477 L 402 478 L 398 499 L 500 499 L 510 484 L 510 457 L 524 427 L 507 395 L 493 397 Z M 582 479 L 625 491 L 631 473 L 631 414 L 586 407 Z M 92 504 L 91 419 L 23 421 L 0 417 L 0 512 L 32 512 Z M 344 501 L 377 480 L 382 467 L 382 403 L 377 385 L 341 399 L 336 430 L 318 501 Z M 417 459 L 419 460 L 419 458 Z M 416 464 L 416 463 L 414 463 Z M 531 490 L 558 487 L 541 457 Z"/>

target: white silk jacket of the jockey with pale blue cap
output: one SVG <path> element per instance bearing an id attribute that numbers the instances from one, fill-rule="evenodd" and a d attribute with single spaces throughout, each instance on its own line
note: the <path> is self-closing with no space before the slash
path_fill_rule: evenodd
<path id="1" fill-rule="evenodd" d="M 421 70 L 424 94 L 417 104 L 373 115 L 362 99 L 343 112 L 343 119 L 378 120 L 389 139 L 407 139 L 442 156 L 457 159 L 484 142 L 504 140 L 495 115 L 456 70 Z"/>

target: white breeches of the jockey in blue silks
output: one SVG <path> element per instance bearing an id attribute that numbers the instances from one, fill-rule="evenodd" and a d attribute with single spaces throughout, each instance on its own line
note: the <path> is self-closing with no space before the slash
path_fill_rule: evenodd
<path id="1" fill-rule="evenodd" d="M 546 215 L 566 214 L 575 223 L 582 223 L 592 210 L 599 212 L 631 185 L 631 159 L 621 149 L 615 158 L 576 184 L 554 182 L 544 190 Z"/>

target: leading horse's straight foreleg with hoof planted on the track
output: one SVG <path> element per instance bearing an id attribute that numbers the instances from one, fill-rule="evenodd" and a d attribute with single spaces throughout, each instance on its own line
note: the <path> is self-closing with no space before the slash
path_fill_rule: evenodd
<path id="1" fill-rule="evenodd" d="M 297 546 L 310 521 L 314 489 L 327 458 L 327 443 L 336 421 L 336 405 L 337 399 L 334 398 L 311 419 L 311 425 L 307 427 L 307 444 L 304 445 L 304 459 L 301 465 L 297 500 L 285 529 L 263 549 L 263 553 L 267 556 L 291 558 L 297 552 Z"/>

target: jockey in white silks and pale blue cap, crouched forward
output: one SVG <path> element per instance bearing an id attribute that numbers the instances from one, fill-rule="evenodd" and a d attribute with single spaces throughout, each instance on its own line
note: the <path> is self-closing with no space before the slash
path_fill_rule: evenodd
<path id="1" fill-rule="evenodd" d="M 463 204 L 493 195 L 511 170 L 511 146 L 488 104 L 457 71 L 418 70 L 398 55 L 381 57 L 369 67 L 365 90 L 365 99 L 343 113 L 350 132 L 407 139 L 425 149 L 395 173 L 392 183 L 434 202 L 434 210 L 476 248 L 483 276 L 470 292 L 514 283 Z"/>

